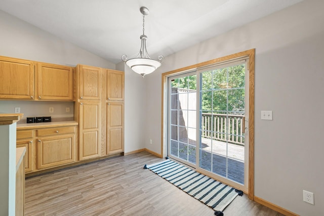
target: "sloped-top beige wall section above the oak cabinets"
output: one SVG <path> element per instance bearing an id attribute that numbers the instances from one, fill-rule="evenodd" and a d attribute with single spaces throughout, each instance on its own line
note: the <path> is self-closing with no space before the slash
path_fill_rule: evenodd
<path id="1" fill-rule="evenodd" d="M 0 55 L 75 66 L 115 69 L 115 64 L 0 11 Z"/>

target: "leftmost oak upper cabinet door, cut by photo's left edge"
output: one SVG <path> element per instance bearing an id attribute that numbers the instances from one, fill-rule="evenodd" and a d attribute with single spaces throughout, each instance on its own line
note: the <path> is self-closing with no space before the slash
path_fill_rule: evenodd
<path id="1" fill-rule="evenodd" d="M 34 64 L 9 57 L 0 57 L 0 98 L 34 98 Z"/>

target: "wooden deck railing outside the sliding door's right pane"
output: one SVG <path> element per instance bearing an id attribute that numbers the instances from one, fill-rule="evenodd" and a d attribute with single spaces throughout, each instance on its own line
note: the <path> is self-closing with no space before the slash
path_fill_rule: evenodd
<path id="1" fill-rule="evenodd" d="M 203 113 L 201 137 L 244 146 L 245 116 Z"/>

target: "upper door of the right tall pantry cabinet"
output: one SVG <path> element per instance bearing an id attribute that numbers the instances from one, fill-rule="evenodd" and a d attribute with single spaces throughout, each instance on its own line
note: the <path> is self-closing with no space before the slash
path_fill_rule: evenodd
<path id="1" fill-rule="evenodd" d="M 107 100 L 124 100 L 124 72 L 107 69 Z"/>

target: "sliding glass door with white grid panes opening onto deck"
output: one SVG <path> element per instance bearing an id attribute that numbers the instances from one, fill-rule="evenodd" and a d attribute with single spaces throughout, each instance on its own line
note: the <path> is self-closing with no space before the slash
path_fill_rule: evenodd
<path id="1" fill-rule="evenodd" d="M 168 78 L 168 156 L 231 185 L 248 186 L 245 60 Z"/>

